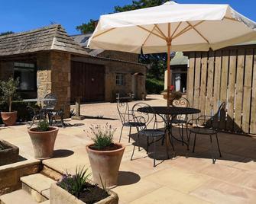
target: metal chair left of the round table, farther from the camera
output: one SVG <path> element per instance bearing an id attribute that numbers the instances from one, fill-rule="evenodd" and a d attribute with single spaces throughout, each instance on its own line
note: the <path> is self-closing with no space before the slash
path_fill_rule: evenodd
<path id="1" fill-rule="evenodd" d="M 120 120 L 122 122 L 122 129 L 119 137 L 119 142 L 121 142 L 122 132 L 124 127 L 129 127 L 129 141 L 131 140 L 131 128 L 137 128 L 138 126 L 144 126 L 144 123 L 138 123 L 134 121 L 131 110 L 129 109 L 129 105 L 127 102 L 122 102 L 121 100 L 117 100 L 117 109 L 118 114 L 120 116 Z"/>

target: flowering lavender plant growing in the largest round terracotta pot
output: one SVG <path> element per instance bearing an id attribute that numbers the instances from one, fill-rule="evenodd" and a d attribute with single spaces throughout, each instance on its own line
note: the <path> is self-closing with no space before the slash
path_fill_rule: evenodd
<path id="1" fill-rule="evenodd" d="M 93 148 L 104 150 L 113 144 L 113 135 L 116 129 L 113 129 L 108 123 L 102 126 L 90 126 L 90 133 L 92 135 L 92 141 L 94 142 Z"/>

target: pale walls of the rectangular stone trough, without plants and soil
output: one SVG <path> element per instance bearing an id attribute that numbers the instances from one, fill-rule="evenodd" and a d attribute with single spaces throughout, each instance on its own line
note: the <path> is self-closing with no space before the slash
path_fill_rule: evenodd
<path id="1" fill-rule="evenodd" d="M 118 204 L 118 195 L 111 190 L 109 191 L 110 196 L 102 199 L 96 204 Z M 68 193 L 66 190 L 57 186 L 56 183 L 50 186 L 50 204 L 84 204 L 80 199 L 77 199 L 72 194 Z"/>

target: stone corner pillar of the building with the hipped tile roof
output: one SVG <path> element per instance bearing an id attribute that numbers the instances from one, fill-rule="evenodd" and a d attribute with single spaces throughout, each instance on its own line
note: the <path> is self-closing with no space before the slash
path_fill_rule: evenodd
<path id="1" fill-rule="evenodd" d="M 37 54 L 37 95 L 55 94 L 56 109 L 65 105 L 65 116 L 70 113 L 70 54 L 47 52 Z"/>

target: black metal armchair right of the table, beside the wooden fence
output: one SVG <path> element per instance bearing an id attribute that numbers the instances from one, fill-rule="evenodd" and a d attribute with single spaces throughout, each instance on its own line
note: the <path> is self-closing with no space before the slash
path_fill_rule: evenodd
<path id="1" fill-rule="evenodd" d="M 209 135 L 209 139 L 211 142 L 211 148 L 212 148 L 212 164 L 215 164 L 215 158 L 213 156 L 213 144 L 212 144 L 212 135 L 215 135 L 216 142 L 218 145 L 219 150 L 219 157 L 222 157 L 222 153 L 219 148 L 219 139 L 218 139 L 218 132 L 219 132 L 219 124 L 221 120 L 221 116 L 225 116 L 225 102 L 223 102 L 214 116 L 199 116 L 196 119 L 192 119 L 188 121 L 188 123 L 196 122 L 196 127 L 190 128 L 190 135 L 189 135 L 189 143 L 190 143 L 190 136 L 192 133 L 195 134 L 194 137 L 194 144 L 193 144 L 193 152 L 195 152 L 195 146 L 196 146 L 196 136 L 197 135 Z"/>

